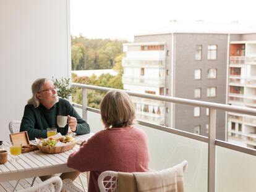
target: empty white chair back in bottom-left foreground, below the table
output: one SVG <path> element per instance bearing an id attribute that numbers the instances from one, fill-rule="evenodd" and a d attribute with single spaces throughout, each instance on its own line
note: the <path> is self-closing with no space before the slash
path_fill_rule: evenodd
<path id="1" fill-rule="evenodd" d="M 59 177 L 51 177 L 45 182 L 39 183 L 19 192 L 60 192 L 62 188 L 62 180 Z"/>

